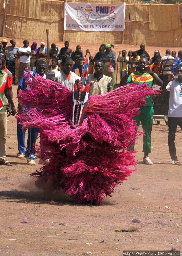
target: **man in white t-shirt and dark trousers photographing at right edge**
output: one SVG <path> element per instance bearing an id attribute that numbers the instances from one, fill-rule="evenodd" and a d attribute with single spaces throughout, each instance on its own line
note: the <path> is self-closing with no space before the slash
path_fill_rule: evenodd
<path id="1" fill-rule="evenodd" d="M 170 92 L 169 97 L 169 112 L 168 112 L 168 146 L 169 153 L 172 159 L 172 164 L 181 165 L 176 156 L 175 134 L 177 126 L 182 129 L 182 66 L 178 66 L 176 75 L 170 74 L 167 81 L 160 88 L 163 94 L 166 91 Z M 175 78 L 178 76 L 178 78 Z"/>

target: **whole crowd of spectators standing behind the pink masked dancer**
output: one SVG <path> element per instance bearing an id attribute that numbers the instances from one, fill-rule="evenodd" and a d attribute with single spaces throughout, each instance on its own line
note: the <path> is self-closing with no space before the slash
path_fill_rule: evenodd
<path id="1" fill-rule="evenodd" d="M 4 38 L 0 43 L 0 123 L 1 133 L 0 138 L 0 164 L 12 165 L 5 161 L 6 151 L 6 129 L 7 119 L 5 117 L 6 110 L 8 115 L 15 115 L 15 106 L 12 100 L 12 84 L 18 84 L 18 90 L 29 90 L 25 83 L 25 70 L 31 71 L 33 76 L 43 76 L 44 78 L 58 81 L 60 84 L 69 87 L 74 91 L 76 80 L 80 80 L 82 74 L 84 57 L 89 58 L 89 76 L 88 82 L 94 81 L 90 89 L 90 95 L 104 94 L 115 89 L 116 86 L 116 71 L 117 65 L 120 70 L 120 86 L 132 82 L 148 83 L 149 87 L 157 84 L 163 90 L 170 91 L 170 109 L 169 109 L 169 150 L 172 159 L 172 164 L 180 164 L 176 156 L 176 148 L 174 145 L 175 133 L 177 125 L 182 128 L 182 51 L 166 50 L 164 56 L 161 56 L 159 50 L 154 51 L 154 56 L 150 58 L 145 50 L 145 44 L 140 45 L 138 51 L 122 50 L 119 52 L 116 60 L 116 52 L 113 50 L 112 44 L 101 44 L 98 52 L 91 55 L 89 49 L 86 53 L 81 50 L 81 46 L 77 45 L 76 50 L 72 51 L 69 48 L 69 42 L 65 41 L 64 47 L 57 47 L 56 44 L 51 44 L 50 49 L 46 48 L 44 42 L 38 46 L 37 42 L 33 42 L 29 46 L 29 41 L 24 40 L 23 46 L 17 47 L 14 39 L 9 42 Z M 47 66 L 47 52 L 50 53 L 51 64 Z M 78 69 L 78 75 L 75 70 Z M 177 75 L 177 76 L 176 76 Z M 176 76 L 176 77 L 175 77 Z M 3 82 L 3 81 L 6 81 Z M 175 81 L 175 82 L 173 82 Z M 177 88 L 177 89 L 176 89 Z M 5 100 L 5 97 L 8 103 Z M 177 100 L 177 98 L 179 98 Z M 146 106 L 142 106 L 141 113 L 135 117 L 137 126 L 142 124 L 145 135 L 143 137 L 143 164 L 151 165 L 152 161 L 149 158 L 151 152 L 151 130 L 153 122 L 153 107 L 152 97 L 146 99 Z M 180 111 L 177 105 L 180 106 Z M 28 106 L 24 106 L 28 109 Z M 18 106 L 18 111 L 21 111 L 23 106 Z M 177 110 L 178 108 L 178 110 Z M 3 114 L 2 114 L 3 113 Z M 178 118 L 175 119 L 175 118 Z M 173 124 L 175 123 L 175 127 Z M 4 127 L 4 128 L 2 128 Z M 38 129 L 28 130 L 28 140 L 25 150 L 25 131 L 22 131 L 21 125 L 17 124 L 18 136 L 18 158 L 27 157 L 29 165 L 35 165 L 35 149 L 34 144 L 38 136 Z M 133 149 L 133 148 L 132 148 Z M 40 163 L 46 163 L 47 159 L 40 159 Z"/>

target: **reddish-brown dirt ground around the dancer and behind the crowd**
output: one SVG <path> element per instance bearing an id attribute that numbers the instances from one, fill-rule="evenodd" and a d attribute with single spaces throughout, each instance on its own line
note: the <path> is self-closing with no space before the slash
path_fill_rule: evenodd
<path id="1" fill-rule="evenodd" d="M 23 40 L 16 41 L 22 45 Z M 72 49 L 75 46 L 70 43 Z M 98 46 L 89 48 L 95 52 Z M 146 47 L 151 57 L 156 48 Z M 118 54 L 119 50 L 136 50 L 139 46 L 118 45 L 114 49 Z M 165 49 L 159 50 L 164 55 Z M 16 90 L 13 86 L 17 106 Z M 153 165 L 142 164 L 141 136 L 135 147 L 137 171 L 102 205 L 78 205 L 69 196 L 47 195 L 34 186 L 29 174 L 40 169 L 39 159 L 36 166 L 29 166 L 26 159 L 16 157 L 16 119 L 8 117 L 7 160 L 13 166 L 0 166 L 0 256 L 121 256 L 123 250 L 180 250 L 182 166 L 171 165 L 167 137 L 164 121 L 160 125 L 154 122 Z M 182 132 L 178 129 L 180 160 L 181 144 Z M 133 227 L 137 228 L 134 233 L 115 232 Z"/>

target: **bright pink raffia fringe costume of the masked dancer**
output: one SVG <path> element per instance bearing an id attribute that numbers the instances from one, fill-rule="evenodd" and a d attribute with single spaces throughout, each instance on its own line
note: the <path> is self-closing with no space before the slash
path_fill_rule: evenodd
<path id="1" fill-rule="evenodd" d="M 70 121 L 73 92 L 51 80 L 28 76 L 30 90 L 19 91 L 18 100 L 29 110 L 17 119 L 24 129 L 40 129 L 43 152 L 38 153 L 50 159 L 31 174 L 38 177 L 36 185 L 68 193 L 79 204 L 101 204 L 135 171 L 129 167 L 136 165 L 135 151 L 127 148 L 141 132 L 136 133 L 131 118 L 147 96 L 158 92 L 147 84 L 133 83 L 91 96 L 83 123 L 74 127 Z"/>

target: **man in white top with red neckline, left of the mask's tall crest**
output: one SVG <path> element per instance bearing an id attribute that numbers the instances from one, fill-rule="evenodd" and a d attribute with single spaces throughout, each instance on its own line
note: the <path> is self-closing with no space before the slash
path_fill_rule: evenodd
<path id="1" fill-rule="evenodd" d="M 52 78 L 52 80 L 58 81 L 60 84 L 69 87 L 71 91 L 74 91 L 75 81 L 80 80 L 80 77 L 70 71 L 72 67 L 73 60 L 70 57 L 66 58 L 63 70 L 56 72 L 55 77 Z"/>

